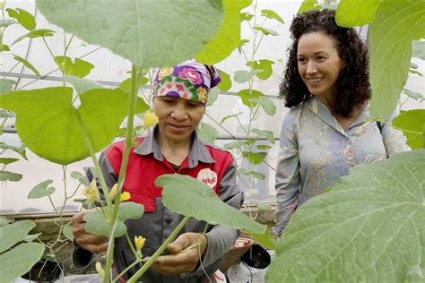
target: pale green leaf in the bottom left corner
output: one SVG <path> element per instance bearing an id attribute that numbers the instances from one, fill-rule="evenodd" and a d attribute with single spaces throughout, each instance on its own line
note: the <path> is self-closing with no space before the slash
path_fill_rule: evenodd
<path id="1" fill-rule="evenodd" d="M 0 279 L 2 282 L 11 282 L 30 271 L 31 267 L 39 262 L 44 252 L 44 245 L 39 243 L 24 243 L 13 250 L 0 254 Z"/>

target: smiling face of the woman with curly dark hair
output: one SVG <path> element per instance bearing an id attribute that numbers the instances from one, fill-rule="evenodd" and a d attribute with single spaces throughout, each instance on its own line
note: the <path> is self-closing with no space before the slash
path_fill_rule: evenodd
<path id="1" fill-rule="evenodd" d="M 332 36 L 310 32 L 299 38 L 298 71 L 308 91 L 319 98 L 331 98 L 336 91 L 336 80 L 343 69 Z"/>

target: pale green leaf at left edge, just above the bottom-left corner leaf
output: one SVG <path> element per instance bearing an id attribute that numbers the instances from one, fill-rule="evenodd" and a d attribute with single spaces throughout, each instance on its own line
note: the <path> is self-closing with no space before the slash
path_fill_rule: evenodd
<path id="1" fill-rule="evenodd" d="M 0 253 L 23 241 L 33 227 L 35 223 L 30 220 L 17 221 L 0 227 Z"/>

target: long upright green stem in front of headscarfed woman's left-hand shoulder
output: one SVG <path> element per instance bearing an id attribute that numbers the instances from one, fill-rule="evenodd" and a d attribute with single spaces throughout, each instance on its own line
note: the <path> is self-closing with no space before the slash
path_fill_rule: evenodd
<path id="1" fill-rule="evenodd" d="M 139 75 L 140 76 L 140 75 Z M 108 243 L 108 251 L 107 251 L 107 262 L 105 265 L 106 270 L 110 270 L 112 266 L 112 258 L 113 258 L 113 251 L 114 251 L 114 232 L 115 227 L 117 226 L 117 214 L 118 214 L 118 207 L 120 203 L 120 196 L 122 191 L 122 185 L 124 178 L 126 176 L 126 166 L 128 162 L 128 156 L 130 153 L 130 148 L 132 145 L 132 139 L 133 139 L 133 124 L 134 124 L 134 112 L 135 112 L 135 103 L 137 99 L 137 90 L 139 89 L 138 85 L 140 82 L 140 78 L 137 75 L 137 70 L 133 64 L 132 66 L 132 75 L 131 75 L 131 88 L 130 88 L 130 98 L 128 101 L 128 116 L 127 116 L 127 128 L 126 128 L 126 148 L 124 150 L 124 156 L 123 160 L 121 162 L 121 167 L 119 171 L 119 177 L 118 177 L 118 189 L 117 189 L 117 196 L 115 197 L 115 205 L 113 206 L 112 215 L 110 218 L 110 223 L 113 223 L 113 227 L 111 229 L 111 234 L 109 236 L 109 243 Z M 111 201 L 110 199 L 108 200 Z M 108 202 L 108 206 L 110 205 Z M 110 207 L 110 206 L 109 206 Z M 105 272 L 105 277 L 103 278 L 104 283 L 108 283 L 108 277 L 109 272 Z"/>

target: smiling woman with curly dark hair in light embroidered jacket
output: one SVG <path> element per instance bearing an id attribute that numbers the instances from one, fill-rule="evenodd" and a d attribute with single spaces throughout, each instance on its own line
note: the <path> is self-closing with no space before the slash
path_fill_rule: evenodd
<path id="1" fill-rule="evenodd" d="M 369 114 L 369 57 L 356 30 L 339 27 L 333 10 L 297 15 L 280 85 L 286 107 L 276 171 L 276 227 L 360 163 L 410 150 L 403 133 Z M 390 118 L 391 119 L 391 118 Z"/>

